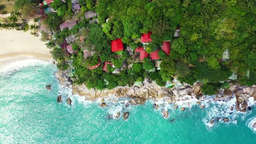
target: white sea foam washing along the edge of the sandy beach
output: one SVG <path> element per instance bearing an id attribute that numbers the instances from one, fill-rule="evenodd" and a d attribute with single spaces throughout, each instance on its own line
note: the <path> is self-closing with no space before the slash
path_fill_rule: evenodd
<path id="1" fill-rule="evenodd" d="M 22 68 L 25 67 L 31 67 L 31 66 L 37 66 L 37 65 L 48 65 L 50 62 L 40 61 L 38 59 L 25 59 L 22 61 L 16 61 L 8 63 L 7 65 L 3 65 L 3 67 L 0 68 L 0 75 L 10 75 L 11 73 L 15 71 L 19 71 Z"/>

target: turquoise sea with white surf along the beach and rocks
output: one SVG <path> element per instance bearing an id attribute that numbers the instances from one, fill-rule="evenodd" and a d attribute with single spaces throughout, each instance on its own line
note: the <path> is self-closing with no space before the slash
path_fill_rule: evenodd
<path id="1" fill-rule="evenodd" d="M 168 119 L 153 109 L 152 101 L 127 109 L 109 103 L 102 109 L 60 87 L 55 71 L 53 64 L 37 60 L 0 68 L 0 143 L 256 143 L 256 131 L 249 128 L 256 121 L 255 106 L 243 114 L 229 112 L 225 103 L 205 109 L 194 105 L 184 112 L 171 105 Z M 56 101 L 59 92 L 62 103 Z M 66 104 L 66 95 L 73 105 Z M 130 111 L 129 118 L 107 117 L 117 110 Z M 209 127 L 208 121 L 217 116 L 231 121 Z"/>

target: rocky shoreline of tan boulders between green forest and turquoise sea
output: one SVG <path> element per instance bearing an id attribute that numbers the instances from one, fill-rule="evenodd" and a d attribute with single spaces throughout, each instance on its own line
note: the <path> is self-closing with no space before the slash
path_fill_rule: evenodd
<path id="1" fill-rule="evenodd" d="M 173 104 L 174 109 L 185 110 L 185 107 L 178 107 L 178 103 L 184 103 L 185 101 L 194 100 L 201 109 L 205 107 L 202 102 L 205 101 L 206 96 L 202 95 L 200 86 L 201 83 L 195 83 L 190 86 L 186 83 L 179 88 L 166 88 L 156 85 L 154 82 L 144 82 L 141 86 L 132 87 L 116 87 L 114 89 L 97 90 L 95 88 L 88 89 L 85 85 L 72 84 L 72 80 L 69 79 L 65 71 L 57 71 L 55 76 L 59 79 L 61 86 L 72 86 L 72 93 L 78 94 L 80 97 L 84 97 L 85 100 L 95 101 L 101 99 L 100 106 L 106 107 L 105 99 L 109 98 L 129 98 L 130 100 L 124 104 L 125 107 L 131 105 L 142 105 L 146 100 L 154 101 L 154 109 L 158 109 L 158 101 L 163 100 L 167 104 Z M 219 89 L 216 93 L 214 101 L 229 101 L 232 97 L 236 97 L 236 105 L 231 106 L 230 110 L 246 112 L 252 110 L 252 107 L 248 106 L 248 99 L 253 98 L 254 104 L 256 103 L 256 86 L 246 87 L 241 85 L 231 85 L 228 89 Z M 115 101 L 117 102 L 117 101 Z M 190 102 L 187 105 L 191 105 Z M 120 115 L 120 113 L 119 113 Z M 118 115 L 118 117 L 119 117 Z M 124 116 L 125 115 L 125 116 Z M 124 113 L 123 117 L 126 119 L 129 114 Z M 162 110 L 164 118 L 168 118 L 168 111 Z M 220 118 L 212 119 L 210 123 L 219 121 Z M 223 122 L 228 122 L 229 118 L 222 118 Z"/>

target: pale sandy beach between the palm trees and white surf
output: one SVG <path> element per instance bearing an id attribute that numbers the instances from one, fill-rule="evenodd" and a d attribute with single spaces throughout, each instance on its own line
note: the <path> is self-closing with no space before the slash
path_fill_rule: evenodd
<path id="1" fill-rule="evenodd" d="M 53 61 L 50 50 L 29 31 L 2 30 L 0 44 L 0 67 L 23 59 Z"/>

